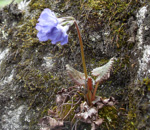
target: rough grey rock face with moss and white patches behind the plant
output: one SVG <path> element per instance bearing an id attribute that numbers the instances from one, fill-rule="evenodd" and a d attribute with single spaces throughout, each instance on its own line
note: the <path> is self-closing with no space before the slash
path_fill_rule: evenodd
<path id="1" fill-rule="evenodd" d="M 74 26 L 65 46 L 39 42 L 35 25 L 44 8 L 79 21 L 89 72 L 117 58 L 110 79 L 98 91 L 118 100 L 116 129 L 150 129 L 150 5 L 108 1 L 31 0 L 0 10 L 1 130 L 38 130 L 40 118 L 54 106 L 57 91 L 73 84 L 65 65 L 82 71 Z M 80 129 L 84 128 L 82 124 Z"/>

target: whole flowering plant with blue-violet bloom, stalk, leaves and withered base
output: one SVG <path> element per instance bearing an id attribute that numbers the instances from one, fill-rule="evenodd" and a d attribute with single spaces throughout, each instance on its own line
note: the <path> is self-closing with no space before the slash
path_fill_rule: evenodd
<path id="1" fill-rule="evenodd" d="M 66 65 L 68 76 L 75 85 L 62 88 L 57 92 L 56 106 L 48 111 L 48 116 L 41 119 L 41 130 L 62 127 L 65 121 L 71 122 L 72 130 L 76 129 L 78 121 L 90 123 L 91 130 L 95 130 L 103 122 L 107 126 L 111 125 L 112 119 L 117 117 L 117 114 L 112 114 L 112 111 L 116 112 L 114 107 L 116 101 L 113 97 L 107 99 L 97 96 L 96 91 L 98 86 L 109 78 L 114 58 L 111 58 L 104 66 L 93 69 L 89 76 L 86 70 L 82 38 L 75 19 L 73 17 L 57 18 L 50 9 L 44 9 L 38 21 L 36 29 L 39 40 L 51 40 L 52 44 L 60 43 L 61 45 L 68 43 L 67 31 L 75 24 L 84 71 L 82 73 Z"/>

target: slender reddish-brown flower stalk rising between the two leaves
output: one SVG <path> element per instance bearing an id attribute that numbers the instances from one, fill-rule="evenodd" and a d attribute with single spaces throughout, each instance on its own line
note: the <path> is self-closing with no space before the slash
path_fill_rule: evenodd
<path id="1" fill-rule="evenodd" d="M 83 51 L 83 42 L 82 42 L 82 38 L 81 38 L 81 33 L 80 33 L 80 29 L 79 26 L 77 24 L 76 21 L 74 21 L 77 32 L 78 32 L 78 37 L 79 37 L 79 42 L 80 42 L 80 48 L 81 48 L 81 57 L 82 57 L 82 64 L 83 64 L 83 70 L 84 70 L 84 74 L 85 74 L 85 79 L 87 79 L 87 70 L 86 70 L 86 64 L 85 64 L 85 58 L 84 58 L 84 51 Z"/>

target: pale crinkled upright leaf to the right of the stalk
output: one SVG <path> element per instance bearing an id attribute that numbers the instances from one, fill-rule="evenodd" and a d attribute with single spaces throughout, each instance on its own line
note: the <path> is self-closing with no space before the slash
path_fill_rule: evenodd
<path id="1" fill-rule="evenodd" d="M 110 77 L 110 70 L 112 68 L 113 62 L 114 62 L 114 58 L 111 58 L 107 64 L 101 67 L 95 68 L 91 71 L 93 76 L 98 76 L 96 78 L 96 82 L 107 80 Z"/>

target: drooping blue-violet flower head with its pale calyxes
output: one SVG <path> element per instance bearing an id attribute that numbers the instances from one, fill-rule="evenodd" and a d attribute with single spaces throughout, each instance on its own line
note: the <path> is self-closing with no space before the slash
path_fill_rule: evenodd
<path id="1" fill-rule="evenodd" d="M 57 18 L 50 9 L 46 8 L 41 13 L 36 24 L 36 29 L 39 31 L 37 37 L 40 41 L 51 40 L 52 44 L 58 42 L 64 45 L 68 42 L 67 31 L 74 23 L 73 17 Z"/>

